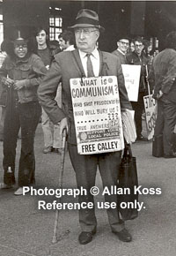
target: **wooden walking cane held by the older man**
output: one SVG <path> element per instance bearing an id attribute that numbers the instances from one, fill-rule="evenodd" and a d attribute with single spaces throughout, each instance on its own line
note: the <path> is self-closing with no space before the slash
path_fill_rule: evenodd
<path id="1" fill-rule="evenodd" d="M 60 173 L 59 173 L 59 188 L 60 189 L 62 189 L 62 177 L 63 177 L 63 168 L 64 168 L 64 160 L 65 160 L 66 137 L 67 137 L 67 130 L 64 129 L 62 132 L 61 169 L 60 169 Z M 61 198 L 59 198 L 59 202 L 61 202 Z M 59 218 L 59 211 L 58 211 L 58 209 L 56 209 L 56 211 L 55 211 L 55 226 L 54 226 L 54 230 L 53 230 L 53 239 L 52 239 L 53 244 L 55 244 L 57 242 L 58 218 Z"/>

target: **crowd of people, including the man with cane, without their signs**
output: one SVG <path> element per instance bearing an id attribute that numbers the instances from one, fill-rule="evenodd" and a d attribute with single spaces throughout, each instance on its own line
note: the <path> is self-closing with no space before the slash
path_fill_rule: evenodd
<path id="1" fill-rule="evenodd" d="M 135 110 L 137 140 L 147 140 L 142 134 L 143 96 L 149 94 L 149 79 L 154 97 L 158 100 L 158 120 L 155 136 L 163 135 L 165 157 L 176 157 L 173 135 L 176 124 L 176 33 L 166 38 L 166 49 L 153 57 L 150 41 L 140 36 L 130 40 L 121 36 L 112 54 L 98 49 L 99 35 L 104 27 L 99 25 L 95 11 L 83 9 L 77 13 L 75 24 L 59 35 L 57 41 L 48 40 L 48 30 L 39 27 L 35 41 L 17 30 L 6 43 L 7 56 L 0 69 L 4 115 L 1 120 L 1 139 L 4 148 L 4 183 L 1 188 L 11 188 L 16 183 L 15 157 L 18 132 L 21 128 L 21 154 L 18 164 L 18 190 L 35 182 L 34 134 L 39 122 L 44 135 L 43 153 L 61 154 L 62 131 L 68 133 L 68 150 L 76 174 L 77 187 L 84 187 L 88 194 L 80 195 L 79 202 L 92 202 L 90 189 L 95 184 L 97 167 L 104 187 L 116 184 L 121 164 L 121 150 L 103 154 L 78 154 L 70 79 L 90 76 L 114 75 L 118 79 L 122 109 Z M 34 43 L 35 42 L 35 43 Z M 36 47 L 34 47 L 36 45 Z M 141 66 L 137 102 L 129 102 L 121 64 Z M 150 73 L 149 78 L 147 77 Z M 92 75 L 90 75 L 92 74 Z M 1 118 L 1 119 L 2 119 Z M 0 124 L 1 124 L 0 122 Z M 2 125 L 1 125 L 2 126 Z M 115 194 L 106 195 L 106 201 L 117 201 Z M 123 242 L 132 237 L 118 208 L 107 210 L 112 232 Z M 97 220 L 94 208 L 79 210 L 82 232 L 81 245 L 92 241 Z"/>

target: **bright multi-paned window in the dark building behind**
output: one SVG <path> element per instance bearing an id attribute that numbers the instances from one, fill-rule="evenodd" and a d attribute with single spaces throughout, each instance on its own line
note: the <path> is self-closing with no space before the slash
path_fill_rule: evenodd
<path id="1" fill-rule="evenodd" d="M 49 10 L 49 39 L 58 40 L 58 35 L 62 33 L 62 9 L 49 7 Z"/>

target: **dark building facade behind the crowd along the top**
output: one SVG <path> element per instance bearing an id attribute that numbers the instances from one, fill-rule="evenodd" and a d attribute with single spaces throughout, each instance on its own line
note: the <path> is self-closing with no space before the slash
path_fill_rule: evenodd
<path id="1" fill-rule="evenodd" d="M 57 40 L 63 29 L 74 23 L 77 11 L 88 8 L 99 13 L 106 32 L 99 47 L 107 51 L 116 48 L 122 35 L 134 38 L 142 35 L 159 41 L 163 49 L 165 35 L 175 29 L 175 1 L 60 1 L 60 0 L 1 0 L 0 33 L 8 38 L 16 26 L 26 26 L 33 33 L 36 26 L 48 27 L 51 40 Z M 4 30 L 2 30 L 2 22 Z M 2 41 L 2 34 L 0 40 Z"/>

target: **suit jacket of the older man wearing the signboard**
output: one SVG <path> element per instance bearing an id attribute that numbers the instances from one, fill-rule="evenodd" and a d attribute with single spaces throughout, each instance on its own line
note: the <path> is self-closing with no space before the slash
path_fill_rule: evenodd
<path id="1" fill-rule="evenodd" d="M 132 109 L 130 102 L 128 102 L 120 61 L 116 56 L 107 52 L 99 51 L 99 56 L 99 76 L 116 76 L 119 84 L 121 108 Z M 85 74 L 78 50 L 64 51 L 55 56 L 55 61 L 51 64 L 47 76 L 43 79 L 38 89 L 40 104 L 54 124 L 60 122 L 64 117 L 68 118 L 68 141 L 71 144 L 77 144 L 77 139 L 70 93 L 70 79 L 81 77 L 85 77 Z M 60 82 L 62 82 L 62 109 L 55 102 L 55 94 Z"/>

